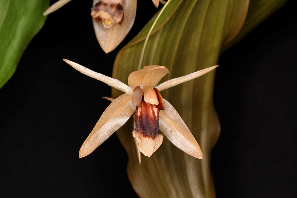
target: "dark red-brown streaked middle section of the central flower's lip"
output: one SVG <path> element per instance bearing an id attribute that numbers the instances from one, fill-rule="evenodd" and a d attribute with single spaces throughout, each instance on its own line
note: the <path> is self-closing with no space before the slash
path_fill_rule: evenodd
<path id="1" fill-rule="evenodd" d="M 140 102 L 135 111 L 135 131 L 155 139 L 159 135 L 159 111 L 156 105 Z"/>

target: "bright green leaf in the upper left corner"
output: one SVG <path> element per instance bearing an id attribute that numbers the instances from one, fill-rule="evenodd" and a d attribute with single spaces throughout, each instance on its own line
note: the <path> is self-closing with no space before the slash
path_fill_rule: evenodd
<path id="1" fill-rule="evenodd" d="M 48 5 L 49 0 L 0 1 L 0 88 L 13 75 L 24 49 L 45 22 L 42 13 Z"/>

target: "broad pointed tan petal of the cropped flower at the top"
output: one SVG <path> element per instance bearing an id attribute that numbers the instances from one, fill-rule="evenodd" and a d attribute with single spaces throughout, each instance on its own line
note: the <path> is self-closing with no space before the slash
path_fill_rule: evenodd
<path id="1" fill-rule="evenodd" d="M 93 5 L 100 0 L 94 0 Z M 135 20 L 137 0 L 123 0 L 124 21 L 121 25 L 113 24 L 105 28 L 102 22 L 96 23 L 93 18 L 93 26 L 97 40 L 105 53 L 113 51 L 127 36 Z"/>

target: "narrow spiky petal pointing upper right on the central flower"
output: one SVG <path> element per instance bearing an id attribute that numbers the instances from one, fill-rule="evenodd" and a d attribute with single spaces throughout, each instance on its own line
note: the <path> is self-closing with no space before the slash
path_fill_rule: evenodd
<path id="1" fill-rule="evenodd" d="M 190 74 L 188 74 L 186 76 L 173 78 L 171 80 L 163 82 L 162 84 L 159 84 L 156 88 L 159 89 L 159 91 L 163 91 L 165 89 L 168 89 L 170 87 L 174 87 L 174 86 L 176 86 L 178 84 L 187 82 L 187 81 L 192 80 L 194 78 L 198 78 L 199 76 L 202 76 L 203 74 L 206 74 L 206 73 L 210 72 L 211 70 L 214 70 L 217 66 L 219 66 L 219 65 L 208 67 L 206 69 L 203 69 L 203 70 L 200 70 L 200 71 L 197 71 L 197 72 L 194 72 L 194 73 L 190 73 Z"/>

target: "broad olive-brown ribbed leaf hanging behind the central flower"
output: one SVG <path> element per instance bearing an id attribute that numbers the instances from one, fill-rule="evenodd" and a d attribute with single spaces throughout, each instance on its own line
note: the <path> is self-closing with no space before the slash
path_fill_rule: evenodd
<path id="1" fill-rule="evenodd" d="M 240 31 L 248 2 L 182 1 L 167 23 L 150 36 L 143 66 L 166 65 L 170 73 L 162 79 L 165 81 L 216 65 L 222 46 Z M 142 32 L 148 32 L 149 28 L 146 26 Z M 119 52 L 114 63 L 114 78 L 127 83 L 129 73 L 137 68 L 143 43 L 143 40 L 132 40 Z M 129 156 L 128 176 L 140 197 L 215 197 L 209 164 L 211 148 L 219 136 L 219 121 L 213 106 L 214 74 L 210 72 L 161 92 L 200 144 L 202 160 L 182 152 L 164 138 L 150 158 L 142 155 L 140 165 L 131 133 L 132 119 L 118 130 Z M 113 97 L 120 94 L 113 90 Z"/>

